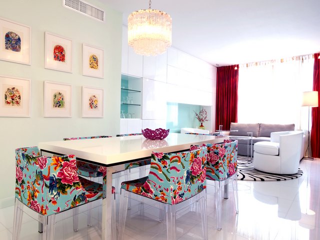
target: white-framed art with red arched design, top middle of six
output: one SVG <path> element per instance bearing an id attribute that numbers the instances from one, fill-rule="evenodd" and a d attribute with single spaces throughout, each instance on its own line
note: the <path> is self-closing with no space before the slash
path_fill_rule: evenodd
<path id="1" fill-rule="evenodd" d="M 72 40 L 45 32 L 44 67 L 72 72 Z"/>

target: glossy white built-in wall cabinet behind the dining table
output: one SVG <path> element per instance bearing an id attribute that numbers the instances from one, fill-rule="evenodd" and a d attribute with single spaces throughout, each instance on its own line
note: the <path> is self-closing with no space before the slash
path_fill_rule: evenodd
<path id="1" fill-rule="evenodd" d="M 214 119 L 216 68 L 209 63 L 173 47 L 157 56 L 138 55 L 128 46 L 127 27 L 123 26 L 121 72 L 142 78 L 141 114 L 135 114 L 140 119 L 121 119 L 121 133 L 165 128 L 167 102 L 213 106 Z"/>

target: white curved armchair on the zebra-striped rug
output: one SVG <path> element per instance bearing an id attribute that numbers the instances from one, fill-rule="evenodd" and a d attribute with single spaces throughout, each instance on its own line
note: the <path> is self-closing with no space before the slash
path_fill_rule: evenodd
<path id="1" fill-rule="evenodd" d="M 298 171 L 302 131 L 271 132 L 271 141 L 259 141 L 253 145 L 255 169 L 278 173 L 294 174 Z"/>

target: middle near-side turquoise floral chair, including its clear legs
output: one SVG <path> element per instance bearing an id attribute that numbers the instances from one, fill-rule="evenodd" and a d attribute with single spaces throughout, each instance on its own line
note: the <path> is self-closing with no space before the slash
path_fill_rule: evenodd
<path id="1" fill-rule="evenodd" d="M 148 176 L 121 183 L 120 239 L 123 239 L 130 193 L 164 204 L 167 239 L 175 239 L 176 205 L 187 199 L 200 203 L 202 229 L 207 239 L 206 222 L 206 148 L 194 146 L 177 153 L 152 152 Z"/>

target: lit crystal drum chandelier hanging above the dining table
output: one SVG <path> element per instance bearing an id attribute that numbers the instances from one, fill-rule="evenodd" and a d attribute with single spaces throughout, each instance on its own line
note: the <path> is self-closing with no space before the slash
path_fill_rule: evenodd
<path id="1" fill-rule="evenodd" d="M 128 44 L 135 53 L 145 56 L 162 54 L 171 45 L 171 17 L 164 11 L 133 11 L 128 16 Z"/>

